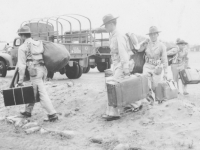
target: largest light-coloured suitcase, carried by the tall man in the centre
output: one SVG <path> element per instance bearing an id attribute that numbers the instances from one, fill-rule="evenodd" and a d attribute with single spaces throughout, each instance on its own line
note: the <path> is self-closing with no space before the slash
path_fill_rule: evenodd
<path id="1" fill-rule="evenodd" d="M 131 75 L 120 81 L 109 81 L 106 85 L 108 105 L 113 107 L 123 107 L 146 98 L 149 92 L 148 78 L 145 75 Z"/>

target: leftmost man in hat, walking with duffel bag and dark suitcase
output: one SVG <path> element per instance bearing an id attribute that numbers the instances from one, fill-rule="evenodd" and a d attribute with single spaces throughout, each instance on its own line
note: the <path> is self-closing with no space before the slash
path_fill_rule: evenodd
<path id="1" fill-rule="evenodd" d="M 28 67 L 30 71 L 30 80 L 33 84 L 34 95 L 37 97 L 37 92 L 39 94 L 40 103 L 48 113 L 48 118 L 45 121 L 56 121 L 58 116 L 52 105 L 51 100 L 46 92 L 44 86 L 44 79 L 47 74 L 47 69 L 44 66 L 44 61 L 42 54 L 33 57 L 30 51 L 30 44 L 35 41 L 31 39 L 31 31 L 28 26 L 23 26 L 18 30 L 18 35 L 24 41 L 24 43 L 18 49 L 18 63 L 17 67 L 19 70 L 19 81 L 17 86 L 23 86 L 23 79 L 25 74 L 25 69 Z M 33 110 L 33 104 L 27 104 L 25 106 L 25 111 L 21 112 L 24 117 L 31 117 L 31 112 Z"/>

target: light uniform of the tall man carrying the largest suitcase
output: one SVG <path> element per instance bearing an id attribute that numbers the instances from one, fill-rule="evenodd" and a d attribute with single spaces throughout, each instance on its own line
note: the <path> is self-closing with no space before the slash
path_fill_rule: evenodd
<path id="1" fill-rule="evenodd" d="M 110 35 L 110 49 L 111 49 L 111 59 L 113 63 L 113 76 L 108 77 L 106 80 L 118 80 L 123 78 L 124 69 L 129 69 L 131 71 L 132 65 L 130 63 L 130 56 L 132 51 L 129 47 L 129 41 L 125 35 L 119 33 L 119 31 L 114 30 Z M 119 116 L 119 109 L 111 106 L 107 106 L 106 114 L 109 116 Z"/>

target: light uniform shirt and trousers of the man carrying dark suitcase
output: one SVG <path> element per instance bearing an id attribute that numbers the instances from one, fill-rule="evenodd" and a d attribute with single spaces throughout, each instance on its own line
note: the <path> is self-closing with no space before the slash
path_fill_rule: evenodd
<path id="1" fill-rule="evenodd" d="M 25 42 L 18 49 L 18 70 L 19 70 L 19 84 L 23 83 L 25 69 L 28 67 L 29 69 L 34 68 L 36 70 L 36 76 L 31 77 L 30 80 L 33 84 L 34 94 L 37 97 L 37 93 L 39 94 L 40 103 L 47 111 L 48 115 L 55 114 L 56 111 L 52 105 L 51 100 L 46 92 L 44 86 L 44 79 L 47 75 L 47 69 L 44 66 L 44 62 L 42 60 L 42 54 L 37 55 L 37 60 L 33 59 L 33 56 L 30 52 L 30 43 L 34 42 L 31 38 L 25 40 Z M 34 104 L 27 104 L 25 106 L 25 112 L 31 113 L 33 110 Z"/>

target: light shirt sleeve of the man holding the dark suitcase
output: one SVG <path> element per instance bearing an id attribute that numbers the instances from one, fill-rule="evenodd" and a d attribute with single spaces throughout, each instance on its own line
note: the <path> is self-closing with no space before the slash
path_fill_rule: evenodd
<path id="1" fill-rule="evenodd" d="M 18 83 L 22 83 L 24 80 L 24 74 L 26 69 L 26 54 L 22 47 L 18 49 L 18 62 L 17 62 L 18 70 L 19 70 L 19 81 Z"/>

